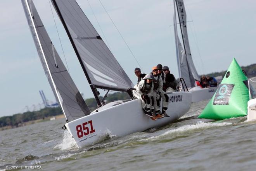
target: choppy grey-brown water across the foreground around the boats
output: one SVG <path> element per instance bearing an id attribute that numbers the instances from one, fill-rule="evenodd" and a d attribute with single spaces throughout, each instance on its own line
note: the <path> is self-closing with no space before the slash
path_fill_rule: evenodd
<path id="1" fill-rule="evenodd" d="M 61 129 L 64 119 L 0 131 L 0 170 L 255 171 L 256 122 L 198 119 L 207 102 L 192 104 L 185 116 L 162 128 L 112 136 L 83 149 Z"/>

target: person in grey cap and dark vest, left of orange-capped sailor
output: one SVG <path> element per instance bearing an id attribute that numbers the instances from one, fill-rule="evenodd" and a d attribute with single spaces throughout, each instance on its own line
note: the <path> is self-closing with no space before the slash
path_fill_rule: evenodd
<path id="1" fill-rule="evenodd" d="M 142 108 L 147 116 L 154 118 L 154 115 L 150 111 L 153 106 L 153 89 L 154 85 L 152 80 L 154 77 L 151 74 L 147 74 L 137 85 L 136 91 L 142 102 Z"/>

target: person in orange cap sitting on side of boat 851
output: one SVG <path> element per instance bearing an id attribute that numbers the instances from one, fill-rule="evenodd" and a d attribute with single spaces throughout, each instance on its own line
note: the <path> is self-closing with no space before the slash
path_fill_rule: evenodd
<path id="1" fill-rule="evenodd" d="M 158 74 L 158 69 L 157 67 L 152 68 L 152 73 L 154 76 L 154 92 L 153 92 L 153 98 L 154 98 L 154 109 L 156 112 L 156 117 L 161 118 L 164 116 L 169 116 L 166 114 L 166 110 L 168 109 L 168 104 L 169 104 L 169 97 L 166 95 L 166 93 L 163 91 L 163 79 L 161 76 Z M 163 99 L 162 103 L 162 112 L 160 111 L 160 104 L 159 104 L 159 98 Z"/>

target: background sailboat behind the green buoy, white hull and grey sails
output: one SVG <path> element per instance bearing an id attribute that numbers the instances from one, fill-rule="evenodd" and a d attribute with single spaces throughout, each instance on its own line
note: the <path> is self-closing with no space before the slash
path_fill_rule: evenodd
<path id="1" fill-rule="evenodd" d="M 199 102 L 201 100 L 210 99 L 216 92 L 217 87 L 201 88 L 200 86 L 195 86 L 195 80 L 200 81 L 200 78 L 195 69 L 189 47 L 189 37 L 187 34 L 187 15 L 184 7 L 184 2 L 183 0 L 173 0 L 173 4 L 173 22 L 179 76 L 180 78 L 183 78 L 185 80 L 189 92 L 192 92 L 192 102 Z M 180 30 L 184 49 L 182 47 L 180 39 L 178 38 L 176 8 L 178 11 L 178 18 L 180 21 Z"/>

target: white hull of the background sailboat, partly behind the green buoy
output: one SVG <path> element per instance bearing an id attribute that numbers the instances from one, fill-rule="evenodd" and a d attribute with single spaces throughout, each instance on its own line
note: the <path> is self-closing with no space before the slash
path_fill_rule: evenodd
<path id="1" fill-rule="evenodd" d="M 192 93 L 192 102 L 200 102 L 213 97 L 218 87 L 201 88 L 200 86 L 189 89 Z"/>

